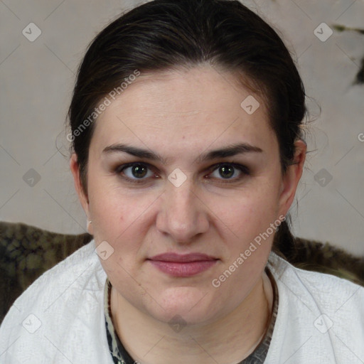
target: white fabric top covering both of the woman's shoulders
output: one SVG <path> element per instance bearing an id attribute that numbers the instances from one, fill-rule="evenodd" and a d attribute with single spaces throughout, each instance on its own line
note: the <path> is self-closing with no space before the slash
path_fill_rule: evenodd
<path id="1" fill-rule="evenodd" d="M 363 364 L 364 287 L 297 269 L 273 252 L 279 291 L 267 364 Z M 1 364 L 112 364 L 104 316 L 106 274 L 95 241 L 45 272 L 0 326 Z"/>

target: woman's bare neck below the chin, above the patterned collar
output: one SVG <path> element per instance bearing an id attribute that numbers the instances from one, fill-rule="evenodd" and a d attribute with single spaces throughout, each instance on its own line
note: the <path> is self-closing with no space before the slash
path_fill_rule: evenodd
<path id="1" fill-rule="evenodd" d="M 112 288 L 112 321 L 128 353 L 141 363 L 221 364 L 240 362 L 264 337 L 272 313 L 273 290 L 263 272 L 242 303 L 213 323 L 173 332 L 168 323 L 148 316 Z"/>

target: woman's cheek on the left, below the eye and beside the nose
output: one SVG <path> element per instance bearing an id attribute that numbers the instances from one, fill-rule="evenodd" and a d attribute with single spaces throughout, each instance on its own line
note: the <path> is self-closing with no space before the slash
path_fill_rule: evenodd
<path id="1" fill-rule="evenodd" d="M 139 269 L 143 250 L 146 249 L 146 234 L 150 228 L 150 205 L 155 200 L 151 193 L 125 193 L 115 186 L 94 183 L 90 188 L 90 208 L 96 245 L 107 242 L 112 255 L 102 260 L 107 274 L 127 279 L 127 272 Z"/>

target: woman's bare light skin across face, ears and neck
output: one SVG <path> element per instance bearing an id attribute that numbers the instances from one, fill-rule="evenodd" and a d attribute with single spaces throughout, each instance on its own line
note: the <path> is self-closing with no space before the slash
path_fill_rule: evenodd
<path id="1" fill-rule="evenodd" d="M 113 286 L 114 326 L 141 363 L 237 363 L 265 331 L 272 287 L 264 267 L 274 234 L 220 287 L 211 282 L 287 214 L 306 145 L 296 141 L 296 163 L 282 176 L 263 100 L 254 95 L 260 106 L 253 114 L 240 106 L 249 95 L 236 75 L 209 65 L 142 74 L 96 121 L 87 196 L 75 154 L 70 159 L 76 191 L 92 220 L 88 230 L 97 245 L 107 241 L 114 249 L 100 259 Z M 154 151 L 165 163 L 102 153 L 119 143 Z M 237 143 L 262 152 L 198 161 L 207 151 Z M 147 164 L 143 183 L 122 178 L 141 180 L 131 167 L 115 171 L 131 162 Z M 238 168 L 224 174 L 214 167 L 218 163 L 242 164 L 250 174 Z M 178 187 L 168 181 L 176 168 L 186 176 Z M 171 277 L 146 260 L 164 252 L 202 252 L 218 261 L 195 276 Z M 186 326 L 173 330 L 171 320 Z"/>

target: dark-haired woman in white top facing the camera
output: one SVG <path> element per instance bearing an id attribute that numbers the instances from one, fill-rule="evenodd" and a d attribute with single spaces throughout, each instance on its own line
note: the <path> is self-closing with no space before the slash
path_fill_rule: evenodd
<path id="1" fill-rule="evenodd" d="M 238 1 L 109 24 L 69 110 L 94 240 L 15 302 L 1 363 L 362 363 L 364 289 L 277 250 L 305 114 L 289 51 Z"/>

